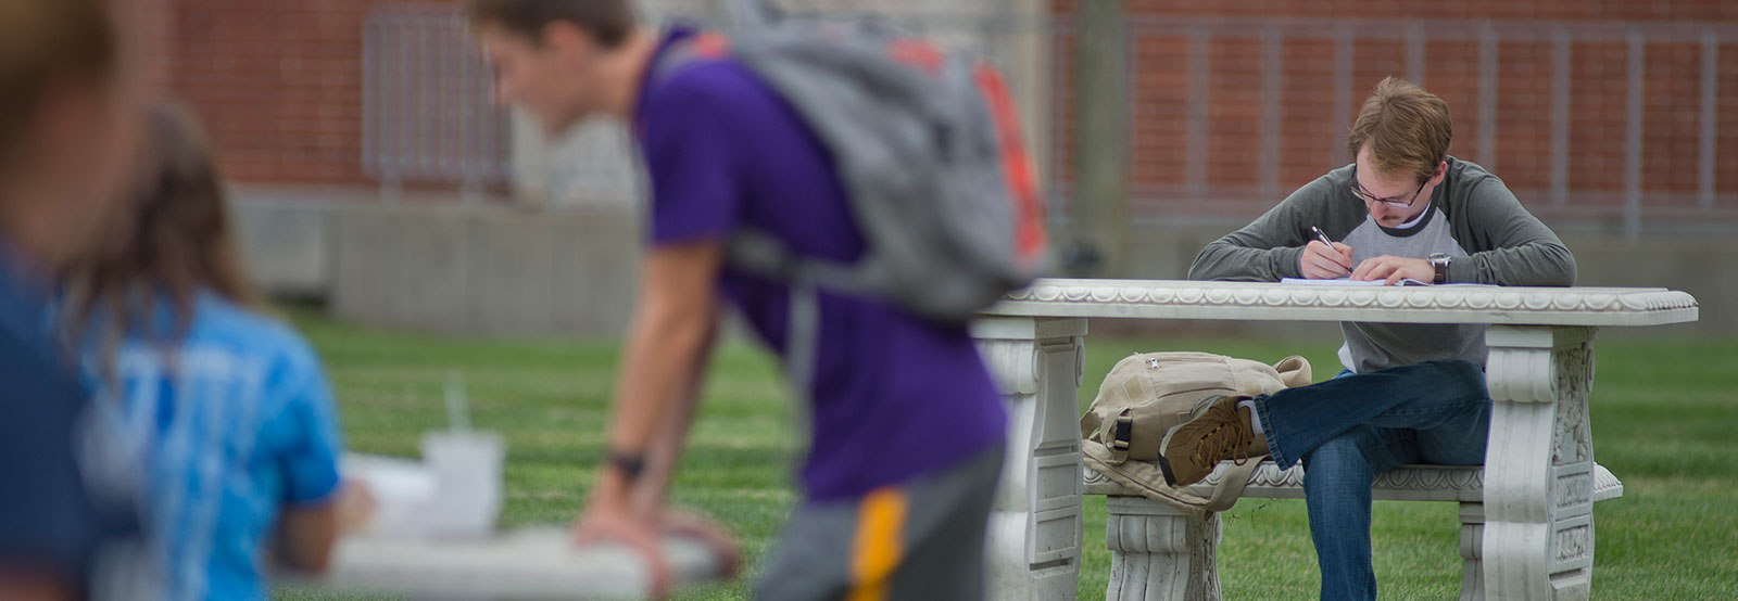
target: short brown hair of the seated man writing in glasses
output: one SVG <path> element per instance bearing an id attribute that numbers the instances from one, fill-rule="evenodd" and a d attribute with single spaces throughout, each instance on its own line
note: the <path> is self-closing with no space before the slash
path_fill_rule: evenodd
<path id="1" fill-rule="evenodd" d="M 1345 151 L 1370 144 L 1370 162 L 1382 174 L 1411 174 L 1420 184 L 1436 175 L 1436 165 L 1448 160 L 1448 142 L 1455 123 L 1448 102 L 1416 83 L 1389 76 L 1364 99 L 1345 134 Z"/>

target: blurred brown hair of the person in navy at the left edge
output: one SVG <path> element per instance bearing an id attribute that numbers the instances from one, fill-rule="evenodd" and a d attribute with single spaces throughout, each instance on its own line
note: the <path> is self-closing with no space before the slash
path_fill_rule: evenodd
<path id="1" fill-rule="evenodd" d="M 0 0 L 0 168 L 23 151 L 45 90 L 115 73 L 118 35 L 108 0 Z"/>

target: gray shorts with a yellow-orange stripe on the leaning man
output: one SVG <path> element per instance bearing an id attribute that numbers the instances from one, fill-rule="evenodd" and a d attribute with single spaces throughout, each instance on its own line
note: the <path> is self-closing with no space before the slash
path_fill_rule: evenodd
<path id="1" fill-rule="evenodd" d="M 799 505 L 754 599 L 984 599 L 984 532 L 1001 462 L 998 443 L 904 485 Z"/>

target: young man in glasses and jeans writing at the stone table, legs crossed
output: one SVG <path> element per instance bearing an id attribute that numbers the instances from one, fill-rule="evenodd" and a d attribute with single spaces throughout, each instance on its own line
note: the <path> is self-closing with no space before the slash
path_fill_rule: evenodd
<path id="1" fill-rule="evenodd" d="M 1575 259 L 1483 167 L 1448 156 L 1448 104 L 1382 80 L 1347 135 L 1354 163 L 1213 241 L 1192 280 L 1350 278 L 1568 287 Z M 1319 228 L 1338 241 L 1321 241 Z M 1343 323 L 1340 377 L 1220 398 L 1166 434 L 1166 476 L 1194 483 L 1224 459 L 1304 462 L 1323 599 L 1375 599 L 1370 485 L 1404 464 L 1483 466 L 1491 401 L 1484 327 Z"/>

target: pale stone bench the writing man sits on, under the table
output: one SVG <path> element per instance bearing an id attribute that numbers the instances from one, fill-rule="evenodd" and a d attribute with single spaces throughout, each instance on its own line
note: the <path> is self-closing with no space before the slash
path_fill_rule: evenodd
<path id="1" fill-rule="evenodd" d="M 1623 497 L 1623 483 L 1594 464 L 1592 502 Z M 1140 497 L 1091 467 L 1083 469 L 1088 495 L 1105 495 L 1105 547 L 1111 549 L 1107 601 L 1218 599 L 1217 547 L 1220 519 L 1192 518 L 1166 504 Z M 1206 497 L 1225 469 L 1213 471 L 1192 492 Z M 1484 599 L 1484 469 L 1403 466 L 1376 476 L 1376 500 L 1460 504 L 1460 599 Z M 1272 460 L 1250 476 L 1244 499 L 1304 499 L 1304 467 L 1279 469 Z M 1592 538 L 1583 542 L 1592 545 Z"/>

